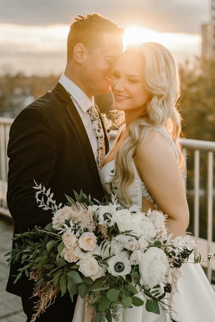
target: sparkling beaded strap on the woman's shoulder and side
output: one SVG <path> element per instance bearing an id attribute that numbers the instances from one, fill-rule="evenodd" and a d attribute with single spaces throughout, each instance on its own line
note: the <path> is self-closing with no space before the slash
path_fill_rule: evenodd
<path id="1" fill-rule="evenodd" d="M 161 130 L 161 128 L 152 128 L 152 130 L 159 132 L 159 133 L 160 133 L 160 134 L 161 134 L 161 135 L 162 135 L 162 136 L 167 140 L 167 142 L 169 143 L 169 145 L 170 145 L 170 147 L 171 147 L 172 151 L 173 151 L 173 152 L 174 152 L 174 154 L 175 154 L 175 157 L 176 157 L 176 159 L 177 159 L 177 162 L 179 162 L 178 152 L 177 152 L 177 150 L 176 150 L 176 147 L 175 147 L 175 145 L 174 145 L 174 143 L 173 143 L 172 139 L 171 139 L 168 135 L 166 135 L 166 133 L 164 133 L 164 132 L 163 132 L 163 130 Z M 145 182 L 144 182 L 144 181 L 142 181 L 142 182 L 141 182 L 141 184 L 140 184 L 140 189 L 141 189 L 141 194 L 142 194 L 142 196 L 143 196 L 146 200 L 151 201 L 151 203 L 154 205 L 154 207 L 155 207 L 155 209 L 156 209 L 156 210 L 160 210 L 160 209 L 159 209 L 159 207 L 158 207 L 158 205 L 157 205 L 157 204 L 156 204 L 156 202 L 154 201 L 154 199 L 153 199 L 152 195 L 150 194 L 150 192 L 149 192 L 149 190 L 148 190 L 148 188 L 147 188 L 147 186 L 146 186 L 146 184 L 145 184 Z"/>

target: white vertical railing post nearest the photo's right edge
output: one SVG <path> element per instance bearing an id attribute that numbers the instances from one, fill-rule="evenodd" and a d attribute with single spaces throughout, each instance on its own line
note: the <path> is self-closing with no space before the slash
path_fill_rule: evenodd
<path id="1" fill-rule="evenodd" d="M 213 239 L 213 152 L 208 152 L 208 166 L 207 166 L 207 200 L 208 200 L 208 254 L 211 252 L 211 243 Z M 207 275 L 211 283 L 212 270 L 210 268 L 210 261 L 208 262 Z"/>

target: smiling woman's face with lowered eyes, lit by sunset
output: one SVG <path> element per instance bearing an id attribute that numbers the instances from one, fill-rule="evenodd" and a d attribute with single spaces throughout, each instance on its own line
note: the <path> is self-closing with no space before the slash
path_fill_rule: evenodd
<path id="1" fill-rule="evenodd" d="M 144 113 L 150 95 L 143 83 L 143 73 L 143 59 L 129 50 L 123 52 L 111 81 L 115 109 L 132 110 L 137 117 Z"/>

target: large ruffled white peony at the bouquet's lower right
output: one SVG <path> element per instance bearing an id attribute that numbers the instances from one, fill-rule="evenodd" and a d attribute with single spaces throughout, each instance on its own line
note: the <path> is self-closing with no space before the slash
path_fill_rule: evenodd
<path id="1" fill-rule="evenodd" d="M 146 288 L 153 288 L 160 282 L 166 281 L 169 270 L 169 262 L 164 251 L 157 247 L 150 247 L 142 255 L 139 262 L 141 275 L 140 284 Z"/>

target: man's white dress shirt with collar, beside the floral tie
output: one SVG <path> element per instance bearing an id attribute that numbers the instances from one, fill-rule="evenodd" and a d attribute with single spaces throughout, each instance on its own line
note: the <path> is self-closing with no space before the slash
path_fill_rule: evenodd
<path id="1" fill-rule="evenodd" d="M 98 146 L 98 139 L 96 137 L 95 131 L 93 129 L 91 119 L 87 110 L 90 108 L 92 104 L 94 104 L 94 98 L 90 100 L 87 95 L 81 90 L 77 85 L 75 85 L 70 79 L 68 79 L 64 74 L 62 74 L 59 83 L 71 94 L 71 99 L 73 101 L 74 106 L 76 107 L 87 135 L 90 140 L 90 144 L 93 150 L 93 154 L 96 160 L 96 164 L 98 166 L 97 160 L 97 146 Z"/>

